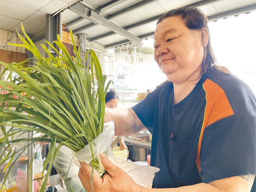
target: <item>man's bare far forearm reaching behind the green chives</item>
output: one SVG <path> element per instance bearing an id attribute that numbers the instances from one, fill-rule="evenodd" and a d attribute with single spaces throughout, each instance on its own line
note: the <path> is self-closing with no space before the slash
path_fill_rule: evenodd
<path id="1" fill-rule="evenodd" d="M 105 122 L 114 121 L 115 135 L 128 136 L 145 130 L 146 127 L 140 121 L 132 108 L 108 109 L 106 108 Z"/>

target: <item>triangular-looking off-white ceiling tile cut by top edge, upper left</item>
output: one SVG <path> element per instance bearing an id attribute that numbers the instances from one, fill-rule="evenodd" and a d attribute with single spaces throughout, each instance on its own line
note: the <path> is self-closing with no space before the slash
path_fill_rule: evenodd
<path id="1" fill-rule="evenodd" d="M 37 11 L 42 8 L 44 5 L 48 4 L 52 0 L 7 0 L 16 5 L 27 7 L 28 9 L 33 9 Z"/>

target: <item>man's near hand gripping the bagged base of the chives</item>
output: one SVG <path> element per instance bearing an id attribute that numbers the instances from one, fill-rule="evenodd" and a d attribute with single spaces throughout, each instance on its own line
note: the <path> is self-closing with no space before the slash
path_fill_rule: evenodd
<path id="1" fill-rule="evenodd" d="M 144 190 L 144 187 L 135 183 L 123 169 L 113 164 L 105 154 L 100 155 L 100 160 L 107 172 L 102 178 L 94 172 L 92 179 L 94 192 L 142 192 Z M 80 162 L 80 165 L 81 167 L 78 172 L 78 177 L 80 178 L 85 190 L 87 192 L 91 192 L 92 169 L 84 162 Z"/>

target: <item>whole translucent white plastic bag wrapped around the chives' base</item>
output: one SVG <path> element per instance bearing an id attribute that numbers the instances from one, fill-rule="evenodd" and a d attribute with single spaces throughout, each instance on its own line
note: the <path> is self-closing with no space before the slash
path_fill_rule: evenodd
<path id="1" fill-rule="evenodd" d="M 105 168 L 100 162 L 100 154 L 105 153 L 114 164 L 124 169 L 136 183 L 143 187 L 151 187 L 155 172 L 158 172 L 160 169 L 148 165 L 140 166 L 130 161 L 116 158 L 110 148 L 113 142 L 114 122 L 105 123 L 104 127 L 105 131 L 93 140 L 95 144 L 92 145 L 94 158 L 98 160 L 96 162 L 98 164 L 97 167 L 94 166 L 97 170 L 94 169 L 94 171 L 97 171 L 100 176 L 105 172 Z M 64 179 L 68 192 L 85 192 L 78 178 L 79 161 L 91 164 L 92 153 L 89 145 L 85 146 L 77 154 L 66 146 L 62 146 L 53 161 L 58 174 Z"/>

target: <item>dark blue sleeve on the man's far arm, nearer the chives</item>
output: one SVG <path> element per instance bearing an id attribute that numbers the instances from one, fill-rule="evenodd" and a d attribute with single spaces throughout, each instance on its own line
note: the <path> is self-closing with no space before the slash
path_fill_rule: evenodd
<path id="1" fill-rule="evenodd" d="M 159 86 L 148 94 L 140 103 L 132 107 L 132 110 L 139 117 L 150 133 L 153 132 L 153 119 L 158 95 Z"/>

